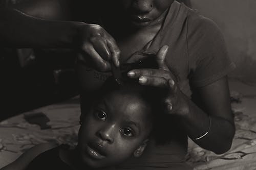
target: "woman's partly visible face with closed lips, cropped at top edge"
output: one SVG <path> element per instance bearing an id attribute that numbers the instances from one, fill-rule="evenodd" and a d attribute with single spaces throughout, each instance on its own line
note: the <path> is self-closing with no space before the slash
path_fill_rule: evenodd
<path id="1" fill-rule="evenodd" d="M 160 19 L 174 0 L 116 0 L 121 11 L 137 27 L 145 27 Z M 118 6 L 117 6 L 118 7 Z"/>

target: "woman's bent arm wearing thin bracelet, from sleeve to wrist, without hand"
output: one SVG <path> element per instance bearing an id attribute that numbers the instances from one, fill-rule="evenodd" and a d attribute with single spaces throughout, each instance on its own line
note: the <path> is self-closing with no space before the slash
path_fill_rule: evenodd
<path id="1" fill-rule="evenodd" d="M 197 88 L 197 105 L 185 94 L 181 95 L 187 108 L 181 116 L 181 122 L 188 136 L 200 147 L 216 154 L 227 152 L 235 131 L 227 77 Z M 207 135 L 196 140 L 206 132 Z"/>

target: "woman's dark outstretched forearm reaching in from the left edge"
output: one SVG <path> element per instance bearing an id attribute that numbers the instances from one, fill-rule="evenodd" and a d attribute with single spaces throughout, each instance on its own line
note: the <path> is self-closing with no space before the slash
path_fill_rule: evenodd
<path id="1" fill-rule="evenodd" d="M 0 9 L 2 47 L 73 48 L 82 22 L 50 21 L 28 16 L 18 10 Z"/>

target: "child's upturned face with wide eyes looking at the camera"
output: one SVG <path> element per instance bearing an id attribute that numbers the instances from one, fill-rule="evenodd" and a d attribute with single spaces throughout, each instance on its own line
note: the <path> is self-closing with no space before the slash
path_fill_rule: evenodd
<path id="1" fill-rule="evenodd" d="M 98 168 L 140 156 L 152 129 L 150 106 L 138 95 L 106 95 L 85 115 L 78 135 L 81 160 Z"/>

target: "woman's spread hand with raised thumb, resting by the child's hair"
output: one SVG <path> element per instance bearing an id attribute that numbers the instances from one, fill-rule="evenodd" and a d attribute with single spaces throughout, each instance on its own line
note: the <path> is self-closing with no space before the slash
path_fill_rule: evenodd
<path id="1" fill-rule="evenodd" d="M 127 76 L 138 79 L 141 85 L 166 89 L 167 95 L 163 100 L 164 110 L 168 114 L 185 115 L 189 112 L 187 100 L 180 91 L 175 76 L 165 63 L 167 52 L 168 45 L 164 45 L 156 55 L 159 69 L 133 69 L 127 73 Z"/>

